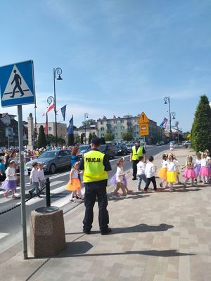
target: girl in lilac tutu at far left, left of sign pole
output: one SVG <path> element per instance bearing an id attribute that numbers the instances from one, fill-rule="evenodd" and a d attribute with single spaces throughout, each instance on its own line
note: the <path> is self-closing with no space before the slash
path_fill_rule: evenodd
<path id="1" fill-rule="evenodd" d="M 2 183 L 1 188 L 5 190 L 4 197 L 8 197 L 8 191 L 11 190 L 12 197 L 15 197 L 17 188 L 17 177 L 15 175 L 15 161 L 11 161 L 6 169 L 6 180 Z"/>

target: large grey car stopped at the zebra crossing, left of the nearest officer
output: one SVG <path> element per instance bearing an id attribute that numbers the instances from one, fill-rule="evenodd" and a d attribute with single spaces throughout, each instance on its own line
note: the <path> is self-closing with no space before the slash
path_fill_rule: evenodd
<path id="1" fill-rule="evenodd" d="M 70 150 L 48 150 L 44 151 L 37 157 L 30 162 L 27 162 L 27 170 L 28 173 L 32 170 L 32 164 L 34 162 L 39 162 L 43 164 L 43 169 L 45 172 L 49 172 L 54 174 L 56 169 L 63 168 L 65 166 L 70 166 L 71 162 L 71 154 Z"/>

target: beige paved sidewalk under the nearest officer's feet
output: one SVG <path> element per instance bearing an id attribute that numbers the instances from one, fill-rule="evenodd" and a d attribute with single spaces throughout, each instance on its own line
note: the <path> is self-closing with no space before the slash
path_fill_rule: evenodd
<path id="1" fill-rule="evenodd" d="M 189 150 L 174 153 L 184 164 Z M 161 157 L 155 159 L 158 167 L 160 162 Z M 65 216 L 65 251 L 51 259 L 24 261 L 18 244 L 0 255 L 1 280 L 210 281 L 210 185 L 186 190 L 175 185 L 175 192 L 145 194 L 136 192 L 132 173 L 128 183 L 134 197 L 113 200 L 110 195 L 110 235 L 98 231 L 97 204 L 94 233 L 84 235 L 80 205 Z"/>

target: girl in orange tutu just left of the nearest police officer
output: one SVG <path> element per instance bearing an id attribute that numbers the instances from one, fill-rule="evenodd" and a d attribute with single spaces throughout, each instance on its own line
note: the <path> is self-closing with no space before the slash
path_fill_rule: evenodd
<path id="1" fill-rule="evenodd" d="M 75 164 L 72 166 L 72 169 L 70 171 L 70 181 L 67 185 L 67 190 L 72 191 L 70 195 L 70 202 L 74 202 L 73 196 L 77 195 L 77 197 L 81 200 L 84 200 L 84 197 L 82 195 L 81 189 L 82 185 L 78 178 L 78 175 L 81 174 L 80 171 L 78 171 L 79 168 L 79 162 L 75 162 Z"/>

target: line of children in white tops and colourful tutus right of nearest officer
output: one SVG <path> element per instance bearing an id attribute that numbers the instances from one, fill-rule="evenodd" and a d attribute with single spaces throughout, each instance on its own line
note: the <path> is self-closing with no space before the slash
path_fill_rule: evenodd
<path id="1" fill-rule="evenodd" d="M 169 189 L 170 192 L 173 192 L 174 184 L 183 186 L 187 188 L 188 181 L 191 180 L 191 186 L 196 185 L 197 183 L 210 183 L 211 180 L 211 159 L 209 150 L 205 152 L 198 152 L 196 155 L 196 161 L 193 163 L 193 157 L 188 155 L 186 157 L 186 163 L 181 165 L 175 155 L 170 153 L 169 155 L 162 155 L 161 168 L 158 171 L 158 178 L 160 178 L 160 189 L 157 188 L 155 181 L 155 174 L 158 167 L 153 164 L 153 156 L 148 158 L 148 162 L 144 163 L 143 157 L 139 157 L 139 163 L 137 164 L 137 191 L 141 191 L 142 181 L 145 183 L 143 192 L 148 192 L 150 183 L 153 183 L 153 189 L 155 192 L 158 192 L 162 189 Z M 117 162 L 117 172 L 110 179 L 110 183 L 116 185 L 116 188 L 113 192 L 113 198 L 117 199 L 120 197 L 118 190 L 122 190 L 122 196 L 129 198 L 132 195 L 132 190 L 127 188 L 127 179 L 123 171 L 124 158 L 121 158 Z M 182 176 L 185 178 L 184 183 L 179 181 L 179 174 L 183 170 Z"/>

